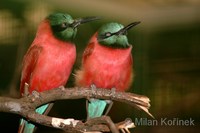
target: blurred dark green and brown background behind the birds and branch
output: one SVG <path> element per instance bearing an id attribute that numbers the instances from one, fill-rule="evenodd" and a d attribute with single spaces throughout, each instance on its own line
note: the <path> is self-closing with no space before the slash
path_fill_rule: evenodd
<path id="1" fill-rule="evenodd" d="M 194 126 L 137 126 L 135 133 L 198 132 L 200 130 L 200 1 L 199 0 L 1 0 L 0 96 L 19 97 L 21 62 L 32 43 L 37 25 L 52 12 L 74 18 L 101 16 L 81 26 L 75 43 L 79 68 L 88 39 L 105 22 L 141 24 L 129 31 L 133 44 L 135 78 L 130 92 L 151 99 L 150 112 L 161 118 L 193 119 Z M 73 86 L 73 77 L 67 86 Z M 85 100 L 58 101 L 51 116 L 84 120 Z M 114 122 L 127 117 L 148 118 L 144 112 L 115 103 Z M 19 116 L 0 113 L 2 131 L 17 132 Z M 37 132 L 61 132 L 39 126 Z"/>

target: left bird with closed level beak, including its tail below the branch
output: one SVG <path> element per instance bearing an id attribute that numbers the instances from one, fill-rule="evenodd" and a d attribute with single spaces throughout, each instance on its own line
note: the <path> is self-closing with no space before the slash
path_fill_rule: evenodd
<path id="1" fill-rule="evenodd" d="M 76 59 L 73 39 L 80 24 L 99 19 L 86 17 L 73 19 L 68 14 L 54 13 L 39 25 L 36 37 L 23 59 L 20 93 L 43 92 L 64 86 Z M 44 114 L 51 104 L 43 105 L 36 112 Z M 31 133 L 34 125 L 24 119 L 20 121 L 18 132 Z"/>

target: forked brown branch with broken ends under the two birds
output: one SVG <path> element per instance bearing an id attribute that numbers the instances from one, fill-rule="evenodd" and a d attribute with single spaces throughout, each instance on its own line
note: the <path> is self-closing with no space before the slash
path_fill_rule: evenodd
<path id="1" fill-rule="evenodd" d="M 122 103 L 129 104 L 137 109 L 145 111 L 148 115 L 153 117 L 148 109 L 150 107 L 150 100 L 146 96 L 137 95 L 127 92 L 113 92 L 107 89 L 90 89 L 90 88 L 57 88 L 45 92 L 35 92 L 31 95 L 27 95 L 20 99 L 0 97 L 0 112 L 7 112 L 18 114 L 25 119 L 38 123 L 41 125 L 60 128 L 65 131 L 73 132 L 86 132 L 86 131 L 112 131 L 115 132 L 115 127 L 117 129 L 127 129 L 133 128 L 133 122 L 127 120 L 115 124 L 113 127 L 113 122 L 109 116 L 102 116 L 99 118 L 89 119 L 85 123 L 80 120 L 74 119 L 60 119 L 55 117 L 49 117 L 45 115 L 40 115 L 35 112 L 35 109 L 43 104 L 50 103 L 57 100 L 66 99 L 81 99 L 81 98 L 98 98 L 107 99 L 113 101 L 119 101 Z"/>

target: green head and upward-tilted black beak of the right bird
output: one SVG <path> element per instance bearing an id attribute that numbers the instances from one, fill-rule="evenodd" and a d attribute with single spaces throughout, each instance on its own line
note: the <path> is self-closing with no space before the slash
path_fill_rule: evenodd
<path id="1" fill-rule="evenodd" d="M 133 22 L 127 26 L 120 23 L 107 23 L 98 30 L 97 40 L 101 45 L 113 48 L 130 47 L 127 38 L 127 30 L 140 22 Z"/>

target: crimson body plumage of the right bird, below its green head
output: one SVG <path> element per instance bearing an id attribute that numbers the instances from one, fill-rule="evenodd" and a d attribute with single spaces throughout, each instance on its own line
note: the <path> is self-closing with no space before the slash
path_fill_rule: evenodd
<path id="1" fill-rule="evenodd" d="M 113 49 L 100 45 L 95 33 L 83 53 L 82 67 L 76 73 L 76 84 L 127 90 L 133 79 L 131 50 L 132 46 Z"/>

